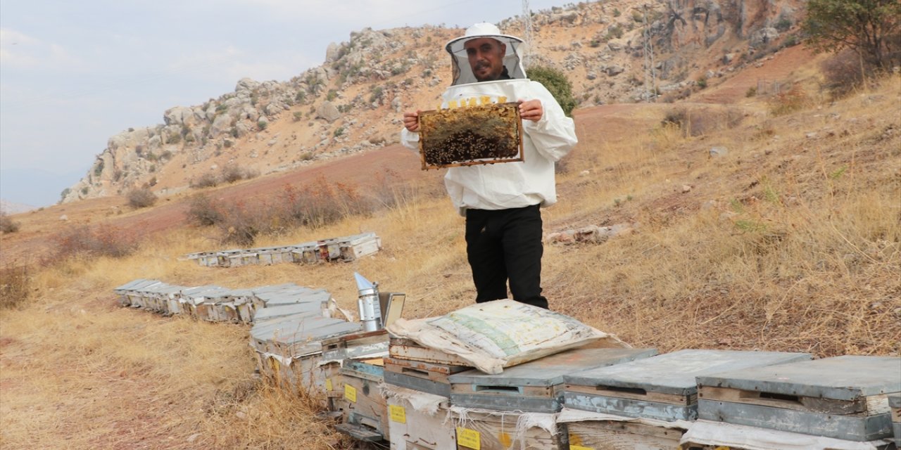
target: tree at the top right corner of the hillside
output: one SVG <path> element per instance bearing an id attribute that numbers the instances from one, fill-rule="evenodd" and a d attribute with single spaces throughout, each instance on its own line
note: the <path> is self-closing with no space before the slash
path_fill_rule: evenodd
<path id="1" fill-rule="evenodd" d="M 810 0 L 801 26 L 816 51 L 853 49 L 875 67 L 901 57 L 898 0 Z"/>

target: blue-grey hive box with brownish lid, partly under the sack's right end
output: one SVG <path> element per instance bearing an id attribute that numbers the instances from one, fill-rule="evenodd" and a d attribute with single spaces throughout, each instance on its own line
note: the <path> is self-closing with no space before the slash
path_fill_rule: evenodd
<path id="1" fill-rule="evenodd" d="M 507 367 L 501 374 L 473 369 L 448 377 L 451 403 L 486 410 L 558 412 L 563 401 L 563 375 L 654 355 L 654 348 L 576 348 Z"/>

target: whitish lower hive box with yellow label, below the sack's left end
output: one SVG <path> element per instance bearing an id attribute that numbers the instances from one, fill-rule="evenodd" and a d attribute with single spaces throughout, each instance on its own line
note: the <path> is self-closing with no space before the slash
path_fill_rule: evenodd
<path id="1" fill-rule="evenodd" d="M 388 385 L 385 392 L 391 450 L 444 450 L 457 446 L 450 399 L 393 385 Z"/>

